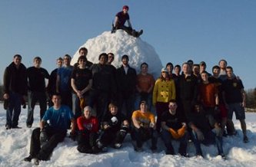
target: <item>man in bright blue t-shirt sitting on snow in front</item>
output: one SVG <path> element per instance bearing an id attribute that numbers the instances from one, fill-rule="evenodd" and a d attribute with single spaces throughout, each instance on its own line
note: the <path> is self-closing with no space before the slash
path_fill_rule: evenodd
<path id="1" fill-rule="evenodd" d="M 53 152 L 53 149 L 62 142 L 66 136 L 68 124 L 71 120 L 71 134 L 75 133 L 74 114 L 68 106 L 61 105 L 61 96 L 54 94 L 52 102 L 54 105 L 46 110 L 40 122 L 40 128 L 36 128 L 32 132 L 30 142 L 29 156 L 24 160 L 31 162 L 35 159 L 35 165 L 39 164 L 40 160 L 48 160 Z M 49 120 L 49 126 L 45 126 Z"/>

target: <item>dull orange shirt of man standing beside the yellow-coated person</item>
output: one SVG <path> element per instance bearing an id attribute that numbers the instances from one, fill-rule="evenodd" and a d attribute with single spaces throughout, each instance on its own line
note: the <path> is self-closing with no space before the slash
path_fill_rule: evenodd
<path id="1" fill-rule="evenodd" d="M 138 80 L 138 84 L 137 84 L 138 88 L 140 88 L 142 92 L 148 92 L 148 89 L 151 86 L 154 86 L 155 84 L 154 77 L 151 74 L 147 74 L 147 75 L 138 74 L 137 80 Z"/>

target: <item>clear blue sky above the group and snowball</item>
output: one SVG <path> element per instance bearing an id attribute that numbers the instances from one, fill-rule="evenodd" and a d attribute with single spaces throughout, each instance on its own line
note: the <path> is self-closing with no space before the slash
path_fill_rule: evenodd
<path id="1" fill-rule="evenodd" d="M 163 65 L 192 59 L 205 61 L 211 72 L 226 59 L 245 89 L 256 87 L 254 0 L 2 0 L 1 83 L 14 54 L 21 54 L 27 67 L 33 57 L 42 57 L 50 73 L 57 57 L 73 55 L 88 39 L 109 31 L 123 5 L 130 7 L 133 28 L 144 30 L 141 39 L 155 47 Z"/>

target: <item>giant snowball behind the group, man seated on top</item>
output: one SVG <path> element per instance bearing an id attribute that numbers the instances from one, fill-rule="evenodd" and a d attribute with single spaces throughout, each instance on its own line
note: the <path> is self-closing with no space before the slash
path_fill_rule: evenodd
<path id="1" fill-rule="evenodd" d="M 89 39 L 81 47 L 88 49 L 87 59 L 92 63 L 98 63 L 99 54 L 112 52 L 115 54 L 115 61 L 113 61 L 112 65 L 120 67 L 121 57 L 127 54 L 129 65 L 134 67 L 137 72 L 140 71 L 141 63 L 146 62 L 148 64 L 148 73 L 153 74 L 155 78 L 161 74 L 162 64 L 154 47 L 142 41 L 141 38 L 134 38 L 128 35 L 125 31 L 118 30 L 114 34 L 111 34 L 110 31 L 105 31 L 98 37 Z M 72 65 L 78 61 L 78 57 L 79 54 L 76 51 L 71 60 Z"/>

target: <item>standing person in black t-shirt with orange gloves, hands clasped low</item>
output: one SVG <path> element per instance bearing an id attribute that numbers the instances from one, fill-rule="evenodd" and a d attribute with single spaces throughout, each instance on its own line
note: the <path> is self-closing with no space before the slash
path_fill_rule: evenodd
<path id="1" fill-rule="evenodd" d="M 91 70 L 85 67 L 86 57 L 78 58 L 78 67 L 74 68 L 71 74 L 71 87 L 75 93 L 75 119 L 81 116 L 82 110 L 88 106 L 89 90 L 91 90 Z"/>

